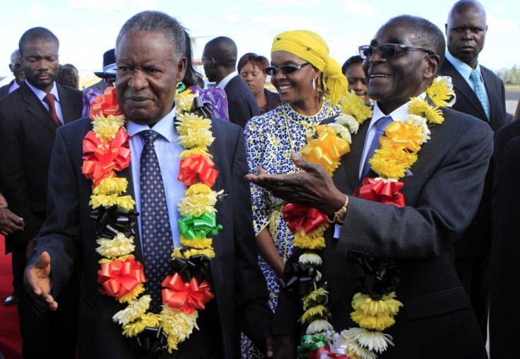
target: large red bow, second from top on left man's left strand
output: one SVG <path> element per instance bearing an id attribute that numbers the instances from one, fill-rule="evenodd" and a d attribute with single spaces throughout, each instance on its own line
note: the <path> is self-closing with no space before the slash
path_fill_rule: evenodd
<path id="1" fill-rule="evenodd" d="M 84 156 L 81 170 L 93 181 L 93 188 L 114 171 L 121 171 L 129 166 L 129 140 L 130 136 L 124 128 L 119 128 L 110 143 L 102 142 L 92 130 L 83 138 Z"/>

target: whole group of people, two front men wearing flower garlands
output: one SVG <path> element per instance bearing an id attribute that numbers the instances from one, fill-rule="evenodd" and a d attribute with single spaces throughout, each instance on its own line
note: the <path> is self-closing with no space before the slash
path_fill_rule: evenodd
<path id="1" fill-rule="evenodd" d="M 309 30 L 270 59 L 215 37 L 205 88 L 143 11 L 83 91 L 27 30 L 0 88 L 23 358 L 516 358 L 520 125 L 487 30 L 459 0 L 343 66 Z"/>

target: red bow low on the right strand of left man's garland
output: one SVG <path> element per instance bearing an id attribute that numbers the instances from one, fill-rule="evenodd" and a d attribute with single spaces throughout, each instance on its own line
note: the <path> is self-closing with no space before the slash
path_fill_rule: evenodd
<path id="1" fill-rule="evenodd" d="M 199 284 L 195 278 L 184 282 L 178 273 L 167 276 L 162 281 L 162 286 L 165 287 L 162 289 L 162 302 L 186 314 L 191 314 L 196 308 L 204 309 L 204 304 L 214 297 L 208 282 Z"/>

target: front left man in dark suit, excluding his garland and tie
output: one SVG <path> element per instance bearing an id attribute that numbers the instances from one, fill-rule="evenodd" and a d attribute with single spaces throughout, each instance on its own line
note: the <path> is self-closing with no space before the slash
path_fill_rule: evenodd
<path id="1" fill-rule="evenodd" d="M 187 63 L 184 46 L 182 26 L 174 18 L 156 11 L 130 18 L 116 42 L 117 100 L 126 117 L 127 133 L 132 136 L 131 164 L 119 177 L 128 180 L 128 194 L 136 199 L 136 210 L 142 212 L 142 131 L 152 128 L 159 133 L 154 147 L 162 183 L 155 184 L 164 186 L 169 209 L 164 212 L 165 221 L 171 224 L 170 241 L 175 247 L 180 246 L 175 231 L 179 218 L 177 202 L 185 187 L 177 181 L 179 153 L 183 148 L 177 142 L 179 135 L 174 126 L 174 98 Z M 49 171 L 49 217 L 35 241 L 25 279 L 37 303 L 52 310 L 57 307 L 55 294 L 69 280 L 73 263 L 82 260 L 79 358 L 148 358 L 149 353 L 133 346 L 132 339 L 122 335 L 121 326 L 112 321 L 112 316 L 125 306 L 110 296 L 102 296 L 98 290 L 101 257 L 95 250 L 96 222 L 90 218 L 92 182 L 81 171 L 82 139 L 91 129 L 90 118 L 83 118 L 58 130 Z M 240 348 L 237 324 L 252 335 L 255 343 L 271 348 L 263 343 L 271 341 L 272 315 L 267 306 L 266 282 L 256 265 L 249 186 L 242 180 L 247 173 L 244 136 L 239 126 L 216 118 L 211 131 L 215 141 L 208 150 L 218 169 L 213 189 L 225 190 L 222 200 L 215 205 L 217 221 L 223 230 L 213 236 L 215 258 L 207 277 L 215 298 L 199 312 L 199 330 L 179 343 L 173 355 L 163 353 L 160 358 L 235 358 Z M 67 183 L 67 187 L 60 188 L 61 183 Z M 142 229 L 142 221 L 141 225 L 135 225 L 134 254 L 136 260 L 146 264 L 150 257 L 143 254 L 143 248 L 149 234 Z M 147 278 L 153 272 L 153 265 L 146 264 Z M 53 296 L 49 294 L 51 270 Z M 146 286 L 149 293 L 148 281 Z"/>

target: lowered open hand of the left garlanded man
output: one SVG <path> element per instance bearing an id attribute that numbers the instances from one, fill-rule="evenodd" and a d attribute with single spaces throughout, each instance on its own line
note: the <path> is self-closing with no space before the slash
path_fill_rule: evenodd
<path id="1" fill-rule="evenodd" d="M 40 259 L 25 268 L 25 291 L 42 310 L 57 310 L 58 303 L 49 294 L 51 288 L 51 257 L 43 252 Z"/>

